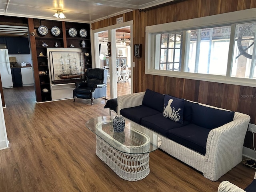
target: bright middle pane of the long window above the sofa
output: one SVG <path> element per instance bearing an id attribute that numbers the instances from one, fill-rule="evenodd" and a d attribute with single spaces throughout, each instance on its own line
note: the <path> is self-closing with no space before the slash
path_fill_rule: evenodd
<path id="1" fill-rule="evenodd" d="M 185 72 L 226 75 L 231 25 L 186 31 Z"/>

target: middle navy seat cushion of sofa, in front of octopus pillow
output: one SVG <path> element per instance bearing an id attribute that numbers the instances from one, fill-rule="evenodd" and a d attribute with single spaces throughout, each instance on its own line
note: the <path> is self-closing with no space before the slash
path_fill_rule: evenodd
<path id="1" fill-rule="evenodd" d="M 188 123 L 189 123 L 188 121 L 184 121 L 183 124 L 174 122 L 174 121 L 170 120 L 169 118 L 165 118 L 162 113 L 144 117 L 141 119 L 142 126 L 150 128 L 150 129 L 154 130 L 155 132 L 158 132 L 166 137 L 168 135 L 168 130 L 174 129 L 174 128 L 179 128 Z"/>

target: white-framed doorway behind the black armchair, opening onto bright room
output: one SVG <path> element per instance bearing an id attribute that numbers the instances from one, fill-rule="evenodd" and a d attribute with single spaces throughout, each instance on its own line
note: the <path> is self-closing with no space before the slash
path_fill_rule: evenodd
<path id="1" fill-rule="evenodd" d="M 132 92 L 132 23 L 125 22 L 92 31 L 95 67 L 107 68 L 109 71 L 107 99 Z M 110 56 L 108 42 L 111 43 Z"/>

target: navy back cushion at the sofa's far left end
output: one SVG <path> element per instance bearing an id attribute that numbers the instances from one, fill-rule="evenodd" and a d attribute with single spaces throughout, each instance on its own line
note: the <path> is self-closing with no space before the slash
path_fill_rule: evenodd
<path id="1" fill-rule="evenodd" d="M 142 105 L 163 112 L 164 95 L 147 89 L 142 100 Z"/>

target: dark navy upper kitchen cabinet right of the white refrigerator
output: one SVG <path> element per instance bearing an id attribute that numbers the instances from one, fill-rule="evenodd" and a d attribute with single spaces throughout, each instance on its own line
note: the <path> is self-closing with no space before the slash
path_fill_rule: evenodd
<path id="1" fill-rule="evenodd" d="M 28 38 L 6 37 L 9 54 L 30 54 Z"/>

